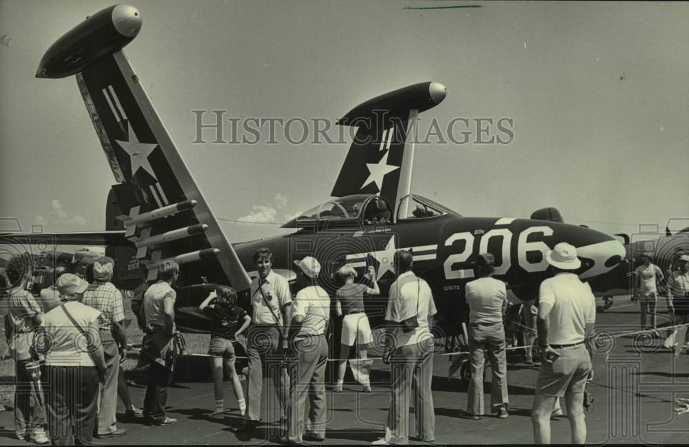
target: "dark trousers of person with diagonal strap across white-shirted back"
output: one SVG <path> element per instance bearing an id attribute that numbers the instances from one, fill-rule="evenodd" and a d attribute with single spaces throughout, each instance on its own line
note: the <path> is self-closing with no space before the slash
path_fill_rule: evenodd
<path id="1" fill-rule="evenodd" d="M 99 378 L 93 366 L 45 366 L 45 409 L 54 446 L 90 445 L 96 426 Z"/>

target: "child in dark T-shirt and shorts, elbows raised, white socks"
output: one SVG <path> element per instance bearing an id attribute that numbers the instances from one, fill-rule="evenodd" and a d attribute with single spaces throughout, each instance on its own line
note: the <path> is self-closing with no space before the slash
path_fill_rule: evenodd
<path id="1" fill-rule="evenodd" d="M 215 293 L 208 295 L 198 309 L 203 311 L 212 321 L 211 342 L 208 355 L 211 356 L 213 371 L 215 411 L 211 417 L 222 419 L 225 417 L 225 399 L 223 397 L 223 363 L 229 371 L 234 397 L 237 398 L 239 412 L 244 415 L 247 404 L 244 399 L 242 384 L 239 382 L 234 368 L 234 345 L 236 337 L 243 333 L 251 323 L 251 317 L 241 307 L 237 306 L 237 293 L 232 287 L 218 287 Z"/>

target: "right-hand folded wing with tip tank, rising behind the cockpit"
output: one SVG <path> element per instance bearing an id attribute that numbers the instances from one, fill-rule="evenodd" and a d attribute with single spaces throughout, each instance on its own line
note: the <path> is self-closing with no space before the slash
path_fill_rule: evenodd
<path id="1" fill-rule="evenodd" d="M 438 105 L 444 85 L 424 82 L 377 96 L 338 121 L 358 127 L 332 196 L 379 194 L 393 208 L 409 194 L 418 114 Z"/>

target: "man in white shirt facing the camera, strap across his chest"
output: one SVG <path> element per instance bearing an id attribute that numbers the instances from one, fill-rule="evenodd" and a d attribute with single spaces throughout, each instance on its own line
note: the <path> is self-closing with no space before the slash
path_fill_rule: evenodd
<path id="1" fill-rule="evenodd" d="M 292 298 L 289 283 L 273 271 L 273 253 L 259 249 L 254 253 L 258 278 L 251 281 L 251 306 L 254 323 L 247 329 L 247 357 L 249 380 L 247 384 L 247 411 L 240 426 L 232 427 L 235 433 L 251 430 L 260 421 L 260 401 L 263 393 L 263 368 L 268 369 L 278 393 L 282 411 L 287 411 L 289 377 L 280 367 L 280 349 L 287 349 L 289 322 L 292 319 Z"/>

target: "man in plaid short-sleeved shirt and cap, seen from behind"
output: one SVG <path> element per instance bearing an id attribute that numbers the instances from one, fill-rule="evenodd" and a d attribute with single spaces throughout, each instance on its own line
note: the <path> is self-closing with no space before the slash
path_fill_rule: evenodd
<path id="1" fill-rule="evenodd" d="M 97 438 L 118 437 L 127 433 L 124 428 L 117 428 L 115 417 L 117 377 L 120 358 L 127 350 L 127 333 L 123 324 L 125 311 L 122 293 L 110 282 L 114 266 L 115 261 L 108 256 L 102 256 L 93 263 L 94 282 L 86 289 L 82 300 L 83 304 L 101 312 L 99 326 L 107 365 L 100 394 Z"/>

